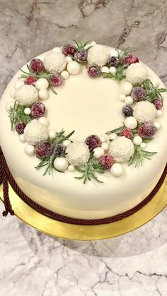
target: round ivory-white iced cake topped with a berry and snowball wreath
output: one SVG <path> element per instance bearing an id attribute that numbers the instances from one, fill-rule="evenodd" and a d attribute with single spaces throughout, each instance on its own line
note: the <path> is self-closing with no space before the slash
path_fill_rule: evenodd
<path id="1" fill-rule="evenodd" d="M 134 208 L 166 167 L 165 92 L 127 50 L 75 41 L 40 54 L 0 100 L 0 146 L 14 181 L 70 218 Z"/>

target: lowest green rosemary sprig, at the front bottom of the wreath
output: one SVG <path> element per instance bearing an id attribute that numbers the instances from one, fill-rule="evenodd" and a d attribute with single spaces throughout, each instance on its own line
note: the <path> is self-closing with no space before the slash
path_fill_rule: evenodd
<path id="1" fill-rule="evenodd" d="M 94 179 L 96 182 L 103 183 L 98 179 L 96 174 L 104 174 L 105 170 L 101 167 L 100 163 L 93 158 L 93 153 L 91 154 L 86 165 L 76 166 L 76 170 L 81 172 L 81 177 L 75 177 L 75 179 L 82 180 L 84 184 L 86 181 L 91 181 Z"/>

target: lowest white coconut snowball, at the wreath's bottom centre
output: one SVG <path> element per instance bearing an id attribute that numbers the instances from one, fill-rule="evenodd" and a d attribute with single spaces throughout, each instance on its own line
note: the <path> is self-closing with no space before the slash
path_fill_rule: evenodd
<path id="1" fill-rule="evenodd" d="M 71 165 L 84 165 L 90 157 L 90 152 L 86 143 L 76 141 L 69 144 L 66 149 L 67 159 Z"/>

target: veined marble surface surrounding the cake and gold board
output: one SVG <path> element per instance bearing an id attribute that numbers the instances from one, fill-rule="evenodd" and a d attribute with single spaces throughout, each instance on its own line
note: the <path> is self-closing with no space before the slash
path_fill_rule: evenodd
<path id="1" fill-rule="evenodd" d="M 167 85 L 166 15 L 166 0 L 0 0 L 0 91 L 26 61 L 73 38 L 130 47 Z M 0 218 L 0 296 L 166 296 L 166 215 L 98 242 Z"/>

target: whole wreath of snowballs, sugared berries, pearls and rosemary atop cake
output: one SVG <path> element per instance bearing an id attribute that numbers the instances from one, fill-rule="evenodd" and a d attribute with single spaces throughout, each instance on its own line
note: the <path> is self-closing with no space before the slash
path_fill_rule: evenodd
<path id="1" fill-rule="evenodd" d="M 106 131 L 105 136 L 90 135 L 84 141 L 72 141 L 72 135 L 65 131 L 49 129 L 45 117 L 45 104 L 50 88 L 57 95 L 57 88 L 69 75 L 77 75 L 81 66 L 87 67 L 90 78 L 102 76 L 120 83 L 119 100 L 124 102 L 122 126 Z M 11 120 L 11 130 L 18 133 L 22 143 L 27 142 L 24 151 L 36 156 L 40 162 L 37 170 L 45 167 L 45 174 L 58 172 L 79 172 L 76 179 L 92 179 L 101 182 L 98 174 L 111 172 L 114 177 L 122 176 L 122 163 L 142 166 L 145 159 L 156 154 L 146 145 L 161 128 L 157 118 L 162 115 L 163 97 L 166 88 L 159 88 L 159 80 L 149 78 L 146 65 L 129 52 L 108 49 L 96 42 L 76 42 L 55 47 L 42 61 L 33 59 L 21 69 L 21 76 L 11 92 L 13 101 L 6 104 Z M 103 183 L 103 182 L 101 182 Z"/>

